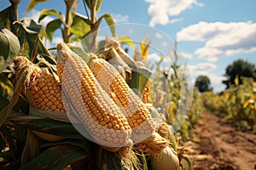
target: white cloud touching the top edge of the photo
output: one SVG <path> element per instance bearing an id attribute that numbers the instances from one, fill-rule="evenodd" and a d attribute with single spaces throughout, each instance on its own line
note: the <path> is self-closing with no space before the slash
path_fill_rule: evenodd
<path id="1" fill-rule="evenodd" d="M 148 14 L 152 16 L 149 22 L 150 26 L 170 23 L 170 16 L 181 14 L 193 4 L 202 6 L 202 3 L 198 3 L 196 0 L 145 0 L 145 2 L 150 3 L 148 7 Z"/>

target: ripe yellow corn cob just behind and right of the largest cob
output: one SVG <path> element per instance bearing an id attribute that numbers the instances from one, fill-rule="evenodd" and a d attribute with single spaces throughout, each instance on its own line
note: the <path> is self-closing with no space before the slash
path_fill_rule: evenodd
<path id="1" fill-rule="evenodd" d="M 104 59 L 90 55 L 90 69 L 101 83 L 102 88 L 125 111 L 125 116 L 132 128 L 132 139 L 141 142 L 154 132 L 153 120 L 143 101 L 139 99 L 118 71 Z"/>

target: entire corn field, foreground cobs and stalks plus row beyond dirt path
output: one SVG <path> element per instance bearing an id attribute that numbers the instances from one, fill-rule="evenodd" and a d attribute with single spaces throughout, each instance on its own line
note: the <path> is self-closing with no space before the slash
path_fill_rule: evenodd
<path id="1" fill-rule="evenodd" d="M 193 128 L 206 110 L 256 132 L 252 79 L 199 94 L 177 42 L 152 64 L 152 37 L 118 35 L 111 14 L 97 16 L 102 0 L 84 0 L 84 14 L 64 0 L 65 17 L 44 8 L 38 20 L 19 20 L 20 1 L 9 2 L 0 12 L 0 169 L 191 169 L 186 142 L 199 140 Z M 47 16 L 55 20 L 44 27 Z M 102 22 L 111 36 L 99 40 Z M 56 30 L 62 41 L 46 48 Z"/>

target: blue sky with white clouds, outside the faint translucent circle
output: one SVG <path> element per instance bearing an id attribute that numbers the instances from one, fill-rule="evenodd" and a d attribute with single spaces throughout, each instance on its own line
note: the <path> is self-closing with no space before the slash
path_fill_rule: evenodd
<path id="1" fill-rule="evenodd" d="M 26 16 L 37 20 L 42 8 L 65 9 L 62 1 L 51 0 L 39 3 L 26 14 L 28 3 L 21 0 L 20 18 Z M 8 6 L 8 0 L 0 0 L 0 10 Z M 256 65 L 255 7 L 255 0 L 103 0 L 99 15 L 112 14 L 117 24 L 151 26 L 177 40 L 177 46 L 189 64 L 192 79 L 195 81 L 197 76 L 206 75 L 214 91 L 218 92 L 225 88 L 221 83 L 224 69 L 234 60 L 245 59 Z M 81 0 L 77 12 L 85 14 Z M 42 24 L 49 20 L 52 18 L 46 18 Z M 56 33 L 53 42 L 58 41 L 61 37 Z M 159 55 L 150 51 L 148 59 Z"/>

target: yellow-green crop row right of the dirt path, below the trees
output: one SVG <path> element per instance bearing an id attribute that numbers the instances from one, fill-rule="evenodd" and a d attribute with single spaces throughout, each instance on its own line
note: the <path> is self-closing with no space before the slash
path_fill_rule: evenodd
<path id="1" fill-rule="evenodd" d="M 241 130 L 253 130 L 256 123 L 256 94 L 253 87 L 256 84 L 252 78 L 242 80 L 242 84 L 220 94 L 207 92 L 201 97 L 209 111 L 230 119 Z"/>

